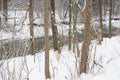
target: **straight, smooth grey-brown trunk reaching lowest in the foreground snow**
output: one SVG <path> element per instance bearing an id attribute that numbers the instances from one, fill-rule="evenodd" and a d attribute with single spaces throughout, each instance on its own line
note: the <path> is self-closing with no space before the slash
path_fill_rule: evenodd
<path id="1" fill-rule="evenodd" d="M 45 27 L 45 77 L 50 78 L 49 72 L 49 1 L 44 0 L 44 27 Z"/>

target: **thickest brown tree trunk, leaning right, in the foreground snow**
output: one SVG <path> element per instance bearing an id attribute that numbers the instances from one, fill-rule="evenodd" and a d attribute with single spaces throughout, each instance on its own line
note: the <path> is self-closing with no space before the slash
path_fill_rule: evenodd
<path id="1" fill-rule="evenodd" d="M 92 0 L 88 0 L 86 2 L 86 7 L 83 12 L 85 29 L 83 33 L 84 36 L 83 36 L 81 62 L 80 62 L 80 73 L 86 73 L 88 69 L 89 45 L 91 43 L 91 38 L 90 38 L 91 8 L 92 8 Z"/>

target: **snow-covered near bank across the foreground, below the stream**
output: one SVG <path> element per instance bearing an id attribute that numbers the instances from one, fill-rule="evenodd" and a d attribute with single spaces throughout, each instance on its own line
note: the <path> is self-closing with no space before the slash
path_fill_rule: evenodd
<path id="1" fill-rule="evenodd" d="M 77 75 L 76 56 L 66 47 L 59 56 L 50 50 L 51 80 L 119 80 L 120 79 L 120 36 L 112 39 L 104 38 L 102 45 L 91 44 L 92 53 L 95 51 L 94 71 Z M 95 48 L 96 47 L 96 48 Z M 95 50 L 96 49 L 96 50 Z M 0 61 L 0 80 L 45 80 L 44 52 L 34 56 L 17 57 Z M 93 69 L 92 69 L 93 70 Z"/>

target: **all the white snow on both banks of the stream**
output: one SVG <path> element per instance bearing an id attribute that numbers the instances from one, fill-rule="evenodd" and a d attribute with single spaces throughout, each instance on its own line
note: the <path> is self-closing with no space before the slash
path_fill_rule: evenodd
<path id="1" fill-rule="evenodd" d="M 21 19 L 25 12 L 17 12 L 17 16 Z M 9 12 L 9 17 L 13 17 L 13 12 Z M 57 15 L 58 18 L 58 15 Z M 12 21 L 12 20 L 10 20 Z M 19 20 L 18 20 L 19 21 Z M 69 26 L 59 23 L 57 19 L 57 28 L 60 35 L 68 35 Z M 13 22 L 13 21 L 12 21 Z M 35 19 L 34 23 L 38 25 L 43 23 L 41 19 Z M 108 26 L 108 20 L 104 22 Z M 13 34 L 12 32 L 0 31 L 0 40 L 11 39 L 13 36 L 17 39 L 30 38 L 29 19 L 24 22 L 24 27 L 21 31 Z M 93 23 L 97 24 L 97 22 Z M 120 20 L 112 20 L 112 25 L 120 28 Z M 84 28 L 84 24 L 77 24 L 77 31 Z M 44 36 L 44 27 L 35 26 L 35 37 Z M 52 35 L 52 30 L 49 28 L 49 35 Z M 75 53 L 63 47 L 61 54 L 57 54 L 54 50 L 50 50 L 50 75 L 48 80 L 119 80 L 120 79 L 120 36 L 112 37 L 111 39 L 104 38 L 102 45 L 97 45 L 96 40 L 90 45 L 90 69 L 93 65 L 93 57 L 95 53 L 94 71 L 88 73 L 77 74 L 79 60 Z M 79 44 L 81 48 L 81 43 Z M 36 53 L 35 56 L 27 55 L 24 57 L 16 57 L 8 60 L 0 61 L 0 80 L 45 80 L 45 52 Z M 35 59 L 35 61 L 34 61 Z"/>

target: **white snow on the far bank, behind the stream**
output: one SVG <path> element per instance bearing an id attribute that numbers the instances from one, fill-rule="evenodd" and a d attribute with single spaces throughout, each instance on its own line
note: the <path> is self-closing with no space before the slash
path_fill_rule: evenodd
<path id="1" fill-rule="evenodd" d="M 17 23 L 22 23 L 23 20 L 25 19 L 24 23 L 23 23 L 23 27 L 20 31 L 18 32 L 6 32 L 4 30 L 0 31 L 0 40 L 4 40 L 4 39 L 11 39 L 13 36 L 20 38 L 20 39 L 25 39 L 25 38 L 30 38 L 30 30 L 29 30 L 29 16 L 27 15 L 27 18 L 25 18 L 26 14 L 28 14 L 28 12 L 26 11 L 16 11 L 16 15 L 15 15 L 15 10 L 11 10 L 8 12 L 8 24 L 9 27 L 8 30 L 14 25 L 14 18 L 16 17 L 16 22 Z M 0 13 L 1 15 L 1 13 Z M 44 27 L 41 25 L 43 24 L 44 20 L 41 18 L 43 18 L 43 16 L 40 14 L 39 16 L 37 15 L 37 13 L 34 12 L 34 23 L 37 24 L 37 26 L 34 26 L 34 35 L 35 37 L 43 37 L 44 36 Z M 107 18 L 106 18 L 107 19 Z M 59 15 L 56 14 L 56 25 L 58 28 L 58 33 L 59 35 L 64 35 L 67 36 L 68 35 L 68 31 L 69 31 L 69 25 L 65 25 L 65 24 L 61 24 L 60 22 L 62 21 L 62 19 L 60 19 Z M 67 19 L 68 21 L 68 19 Z M 99 22 L 96 22 L 93 20 L 93 25 L 95 27 L 98 27 Z M 109 26 L 109 21 L 108 19 L 106 21 L 103 22 L 103 24 L 105 24 L 107 27 Z M 11 26 L 10 26 L 11 25 Z M 114 25 L 113 27 L 118 27 L 120 28 L 120 20 L 112 20 L 112 25 Z M 20 29 L 20 27 L 22 26 L 22 24 L 16 26 L 15 29 Z M 84 29 L 84 24 L 77 24 L 76 25 L 77 31 L 79 33 L 81 33 L 81 30 Z M 52 30 L 51 30 L 51 26 L 49 26 L 49 35 L 52 35 Z"/>

